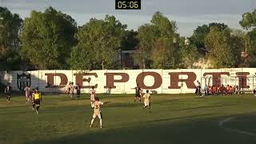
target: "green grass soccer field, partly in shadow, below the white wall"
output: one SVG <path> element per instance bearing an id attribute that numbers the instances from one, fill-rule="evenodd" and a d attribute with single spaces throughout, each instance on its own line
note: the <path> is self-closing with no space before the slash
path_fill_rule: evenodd
<path id="1" fill-rule="evenodd" d="M 66 95 L 43 97 L 40 114 L 25 96 L 0 98 L 0 143 L 168 143 L 255 144 L 256 97 L 253 94 L 196 98 L 194 94 L 152 95 L 151 109 L 134 103 L 134 94 L 98 94 L 98 118 L 88 94 L 80 100 Z"/>

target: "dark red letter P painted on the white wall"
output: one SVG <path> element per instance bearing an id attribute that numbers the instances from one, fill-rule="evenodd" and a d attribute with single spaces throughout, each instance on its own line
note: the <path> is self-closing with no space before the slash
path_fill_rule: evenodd
<path id="1" fill-rule="evenodd" d="M 116 86 L 114 86 L 114 82 L 128 82 L 129 81 L 129 75 L 126 73 L 105 73 L 104 75 L 106 75 L 106 86 L 104 86 L 104 88 L 114 89 L 114 88 L 116 88 Z M 119 75 L 122 78 L 114 79 L 114 75 Z"/>

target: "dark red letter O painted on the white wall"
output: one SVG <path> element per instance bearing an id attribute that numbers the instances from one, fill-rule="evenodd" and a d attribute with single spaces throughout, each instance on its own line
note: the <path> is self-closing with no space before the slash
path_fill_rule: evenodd
<path id="1" fill-rule="evenodd" d="M 154 77 L 153 86 L 146 86 L 144 83 L 144 78 L 148 75 Z M 136 82 L 138 86 L 140 86 L 142 89 L 153 90 L 153 89 L 158 89 L 162 85 L 162 77 L 160 74 L 156 72 L 143 72 L 141 74 L 138 74 L 138 77 L 136 78 Z"/>

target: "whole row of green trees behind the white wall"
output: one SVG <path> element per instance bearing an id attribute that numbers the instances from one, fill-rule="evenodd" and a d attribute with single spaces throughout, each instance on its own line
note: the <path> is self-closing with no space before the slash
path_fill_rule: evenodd
<path id="1" fill-rule="evenodd" d="M 184 38 L 160 12 L 134 31 L 112 15 L 78 26 L 53 7 L 25 19 L 0 7 L 0 70 L 121 69 L 118 50 L 134 50 L 134 68 L 254 67 L 256 10 L 239 23 L 244 30 L 212 22 Z"/>

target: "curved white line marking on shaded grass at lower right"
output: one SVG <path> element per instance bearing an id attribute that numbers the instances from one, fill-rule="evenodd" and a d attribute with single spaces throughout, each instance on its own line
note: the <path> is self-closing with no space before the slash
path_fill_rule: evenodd
<path id="1" fill-rule="evenodd" d="M 239 133 L 239 134 L 246 134 L 246 135 L 250 135 L 250 136 L 256 136 L 256 134 L 254 133 L 250 133 L 248 131 L 244 131 L 244 130 L 238 130 L 238 129 L 231 129 L 229 127 L 224 126 L 224 123 L 229 122 L 230 120 L 237 118 L 237 117 L 230 117 L 230 118 L 225 118 L 222 121 L 218 122 L 218 126 L 222 127 L 225 130 L 229 130 L 235 133 Z"/>

